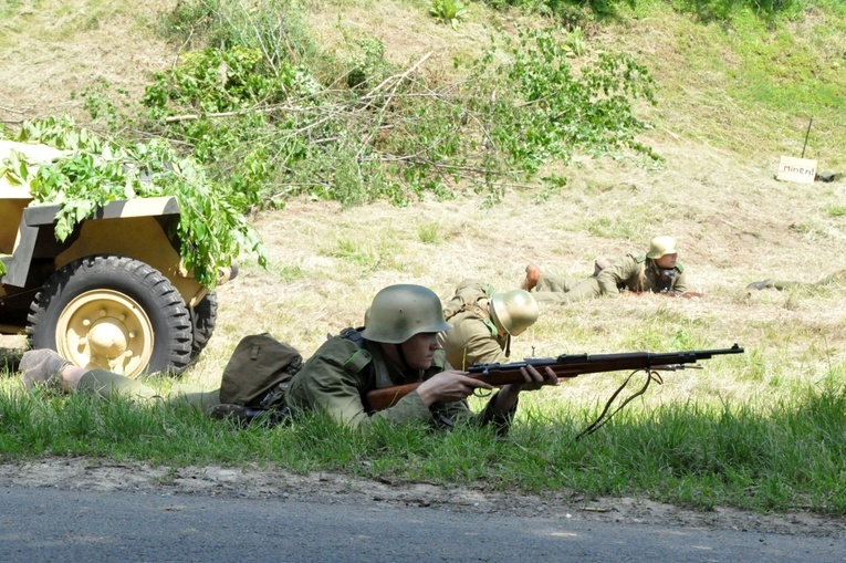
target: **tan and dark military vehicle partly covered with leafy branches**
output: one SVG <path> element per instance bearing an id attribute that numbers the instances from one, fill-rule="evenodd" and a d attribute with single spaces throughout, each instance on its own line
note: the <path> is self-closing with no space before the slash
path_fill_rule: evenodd
<path id="1" fill-rule="evenodd" d="M 61 152 L 0 139 L 46 164 Z M 175 197 L 112 201 L 55 236 L 59 205 L 34 205 L 27 186 L 0 177 L 0 334 L 24 334 L 80 367 L 130 377 L 181 373 L 208 343 L 217 295 L 184 267 Z M 220 282 L 237 269 L 220 272 Z"/>

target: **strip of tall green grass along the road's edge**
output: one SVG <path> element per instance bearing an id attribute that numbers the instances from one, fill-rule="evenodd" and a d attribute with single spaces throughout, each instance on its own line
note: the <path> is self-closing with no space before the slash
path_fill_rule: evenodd
<path id="1" fill-rule="evenodd" d="M 598 408 L 598 405 L 596 406 Z M 576 441 L 594 408 L 526 400 L 510 435 L 379 425 L 368 432 L 312 415 L 239 429 L 190 408 L 0 387 L 0 456 L 88 456 L 154 465 L 338 470 L 485 490 L 630 494 L 698 509 L 846 514 L 846 387 L 807 387 L 771 405 L 637 403 Z"/>

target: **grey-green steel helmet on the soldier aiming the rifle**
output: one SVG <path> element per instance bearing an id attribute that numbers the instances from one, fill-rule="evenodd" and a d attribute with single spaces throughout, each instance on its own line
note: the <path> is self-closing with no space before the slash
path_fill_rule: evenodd
<path id="1" fill-rule="evenodd" d="M 422 332 L 448 331 L 440 298 L 428 288 L 388 285 L 379 291 L 365 315 L 362 336 L 373 342 L 401 344 Z"/>

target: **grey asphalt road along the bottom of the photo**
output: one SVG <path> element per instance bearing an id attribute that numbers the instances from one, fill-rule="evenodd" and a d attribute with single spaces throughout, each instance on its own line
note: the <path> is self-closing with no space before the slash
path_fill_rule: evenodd
<path id="1" fill-rule="evenodd" d="M 377 503 L 0 488 L 3 562 L 846 562 L 846 540 Z"/>

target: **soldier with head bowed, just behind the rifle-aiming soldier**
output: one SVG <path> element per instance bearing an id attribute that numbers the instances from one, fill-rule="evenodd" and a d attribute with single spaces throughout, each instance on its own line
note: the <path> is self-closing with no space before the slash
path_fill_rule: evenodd
<path id="1" fill-rule="evenodd" d="M 511 337 L 537 321 L 539 309 L 528 291 L 494 292 L 478 280 L 462 281 L 443 307 L 452 329 L 438 335 L 447 362 L 456 369 L 477 363 L 508 363 Z"/>

